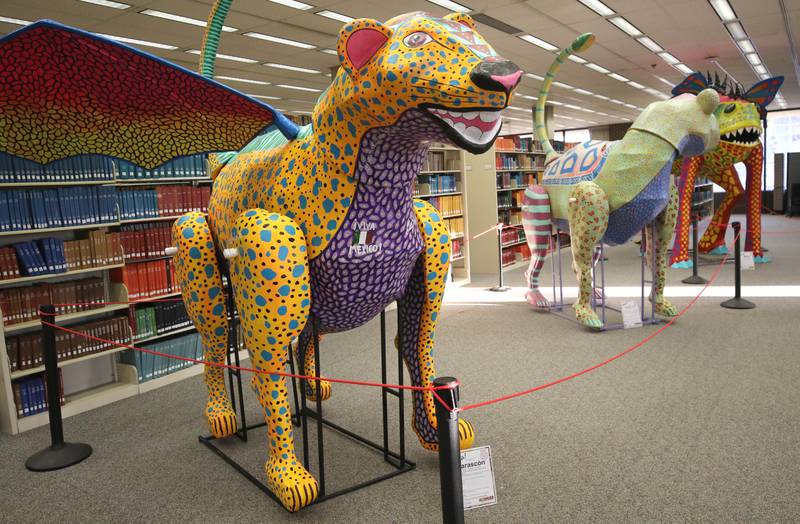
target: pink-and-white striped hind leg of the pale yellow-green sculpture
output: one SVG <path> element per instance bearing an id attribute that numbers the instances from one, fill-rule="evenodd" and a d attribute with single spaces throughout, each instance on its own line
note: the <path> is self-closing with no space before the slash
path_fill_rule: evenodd
<path id="1" fill-rule="evenodd" d="M 549 304 L 539 291 L 539 274 L 550 249 L 552 221 L 550 197 L 544 187 L 529 186 L 525 189 L 525 196 L 522 200 L 522 225 L 525 228 L 525 239 L 531 250 L 531 262 L 525 272 L 525 278 L 530 288 L 526 297 L 532 306 L 545 309 Z"/>

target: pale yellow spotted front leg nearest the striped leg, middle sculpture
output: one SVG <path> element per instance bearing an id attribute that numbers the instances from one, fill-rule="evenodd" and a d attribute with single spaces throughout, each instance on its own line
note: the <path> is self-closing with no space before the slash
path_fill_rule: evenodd
<path id="1" fill-rule="evenodd" d="M 580 182 L 572 189 L 567 206 L 572 269 L 578 277 L 578 299 L 572 306 L 575 318 L 591 328 L 603 326 L 591 306 L 594 248 L 608 227 L 608 197 L 594 182 Z M 674 222 L 673 222 L 674 226 Z"/>

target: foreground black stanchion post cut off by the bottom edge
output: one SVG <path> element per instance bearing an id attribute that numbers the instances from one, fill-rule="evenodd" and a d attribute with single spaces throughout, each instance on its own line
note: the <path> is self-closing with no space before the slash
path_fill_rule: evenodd
<path id="1" fill-rule="evenodd" d="M 464 522 L 464 491 L 461 486 L 461 450 L 458 438 L 458 381 L 453 377 L 439 377 L 433 381 L 437 394 L 447 406 L 437 399 L 436 423 L 439 435 L 439 480 L 442 488 L 442 522 Z"/>

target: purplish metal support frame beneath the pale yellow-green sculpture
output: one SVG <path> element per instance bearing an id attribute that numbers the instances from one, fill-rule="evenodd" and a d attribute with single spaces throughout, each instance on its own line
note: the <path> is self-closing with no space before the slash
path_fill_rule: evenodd
<path id="1" fill-rule="evenodd" d="M 655 230 L 655 222 L 645 226 L 649 227 L 651 231 L 651 238 L 655 242 L 656 238 L 656 230 Z M 553 278 L 553 301 L 550 305 L 550 312 L 554 315 L 570 320 L 572 322 L 579 323 L 572 312 L 567 312 L 565 309 L 569 306 L 572 306 L 572 303 L 567 303 L 564 301 L 564 278 L 563 278 L 563 264 L 561 260 L 561 231 L 556 229 L 556 240 L 555 240 L 555 250 L 553 250 L 553 241 L 552 237 L 550 240 L 550 267 L 552 272 Z M 655 307 L 654 305 L 650 304 L 650 312 L 648 315 L 645 315 L 644 305 L 645 305 L 645 285 L 652 284 L 655 282 L 656 279 L 656 249 L 653 246 L 652 250 L 652 260 L 650 264 L 650 280 L 647 280 L 645 277 L 645 268 L 647 266 L 646 260 L 646 250 L 645 250 L 645 229 L 642 229 L 642 245 L 641 248 L 641 293 L 639 296 L 639 311 L 642 315 L 642 325 L 651 325 L 651 324 L 658 324 L 661 322 L 658 318 L 656 318 L 655 314 Z M 554 252 L 555 251 L 555 252 Z M 606 310 L 610 309 L 612 311 L 620 312 L 619 308 L 610 306 L 606 303 L 606 272 L 605 272 L 605 262 L 607 258 L 605 256 L 605 251 L 603 248 L 603 243 L 600 242 L 595 246 L 594 253 L 592 256 L 592 296 L 591 296 L 591 305 L 592 309 L 595 313 L 598 313 L 600 316 L 600 321 L 602 322 L 602 326 L 599 328 L 599 331 L 608 331 L 612 329 L 621 329 L 623 328 L 623 324 L 621 322 L 615 323 L 608 323 L 606 321 Z M 599 269 L 597 266 L 600 266 Z M 598 273 L 599 273 L 599 282 L 598 282 Z M 556 278 L 558 278 L 558 285 L 556 285 Z M 599 285 L 598 285 L 599 284 Z M 649 299 L 648 299 L 649 301 Z M 599 309 L 599 311 L 598 311 Z M 582 325 L 582 324 L 581 324 Z"/>

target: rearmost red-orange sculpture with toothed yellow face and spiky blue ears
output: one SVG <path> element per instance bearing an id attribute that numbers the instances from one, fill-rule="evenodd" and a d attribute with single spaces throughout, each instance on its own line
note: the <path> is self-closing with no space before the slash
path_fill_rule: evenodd
<path id="1" fill-rule="evenodd" d="M 761 247 L 761 172 L 764 148 L 761 144 L 761 120 L 767 106 L 778 93 L 783 77 L 768 78 L 742 92 L 739 86 L 709 73 L 692 73 L 675 86 L 673 95 L 697 94 L 713 88 L 721 103 L 714 115 L 719 122 L 719 147 L 708 153 L 675 162 L 672 172 L 679 175 L 678 225 L 672 246 L 670 264 L 674 268 L 690 268 L 689 230 L 691 226 L 692 193 L 695 178 L 705 177 L 725 190 L 725 199 L 714 211 L 714 217 L 700 238 L 697 248 L 701 253 L 725 254 L 725 230 L 733 207 L 744 196 L 747 202 L 747 228 L 745 251 L 752 251 L 757 264 L 769 262 Z M 742 188 L 734 167 L 743 162 L 747 168 L 746 187 Z"/>

